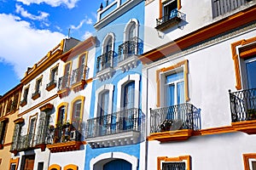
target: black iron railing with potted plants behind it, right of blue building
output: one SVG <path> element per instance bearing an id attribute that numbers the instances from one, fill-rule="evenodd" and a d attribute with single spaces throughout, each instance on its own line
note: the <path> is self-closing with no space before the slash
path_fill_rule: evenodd
<path id="1" fill-rule="evenodd" d="M 150 133 L 199 128 L 200 111 L 189 103 L 150 109 Z"/>

